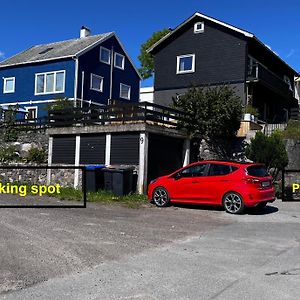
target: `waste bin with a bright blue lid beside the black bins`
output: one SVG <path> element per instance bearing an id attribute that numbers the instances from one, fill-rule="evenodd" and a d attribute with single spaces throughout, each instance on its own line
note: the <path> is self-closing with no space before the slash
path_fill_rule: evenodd
<path id="1" fill-rule="evenodd" d="M 86 191 L 97 192 L 104 187 L 103 169 L 104 165 L 86 166 Z"/>

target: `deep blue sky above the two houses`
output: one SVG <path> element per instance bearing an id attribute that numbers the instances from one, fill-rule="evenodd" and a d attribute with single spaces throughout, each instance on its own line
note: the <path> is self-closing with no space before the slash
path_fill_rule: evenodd
<path id="1" fill-rule="evenodd" d="M 196 11 L 254 33 L 300 71 L 297 0 L 2 1 L 0 60 L 36 44 L 76 38 L 85 25 L 94 34 L 115 31 L 139 66 L 141 43 Z M 150 84 L 148 80 L 143 86 Z"/>

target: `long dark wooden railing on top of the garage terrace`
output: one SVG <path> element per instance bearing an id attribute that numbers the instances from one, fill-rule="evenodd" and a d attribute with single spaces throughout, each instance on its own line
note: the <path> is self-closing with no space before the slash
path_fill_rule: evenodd
<path id="1" fill-rule="evenodd" d="M 49 110 L 48 117 L 16 120 L 13 125 L 20 129 L 40 129 L 65 126 L 121 125 L 148 123 L 176 128 L 188 114 L 170 107 L 149 102 L 114 103 L 101 108 L 68 108 Z M 9 126 L 0 122 L 0 127 Z"/>

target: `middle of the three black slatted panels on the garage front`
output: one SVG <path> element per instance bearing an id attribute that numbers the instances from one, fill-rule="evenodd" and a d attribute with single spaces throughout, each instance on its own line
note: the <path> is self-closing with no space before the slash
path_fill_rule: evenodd
<path id="1" fill-rule="evenodd" d="M 105 164 L 105 135 L 80 137 L 80 163 Z"/>

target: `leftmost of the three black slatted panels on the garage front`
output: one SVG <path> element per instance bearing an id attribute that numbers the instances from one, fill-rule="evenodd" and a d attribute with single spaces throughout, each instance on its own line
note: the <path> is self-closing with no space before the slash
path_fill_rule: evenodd
<path id="1" fill-rule="evenodd" d="M 75 164 L 75 136 L 53 137 L 52 163 Z"/>

